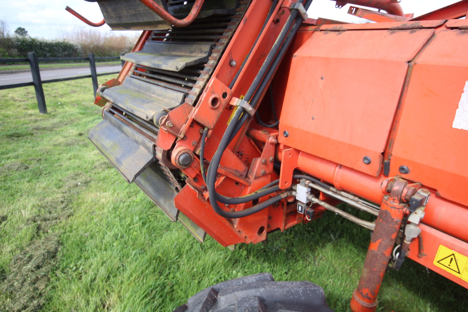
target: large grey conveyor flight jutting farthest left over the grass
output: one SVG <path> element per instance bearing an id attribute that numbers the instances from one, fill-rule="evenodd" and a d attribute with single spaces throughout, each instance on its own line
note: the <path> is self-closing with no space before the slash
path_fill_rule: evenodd
<path id="1" fill-rule="evenodd" d="M 132 183 L 152 162 L 154 141 L 135 131 L 109 112 L 89 131 L 88 138 L 124 178 Z"/>

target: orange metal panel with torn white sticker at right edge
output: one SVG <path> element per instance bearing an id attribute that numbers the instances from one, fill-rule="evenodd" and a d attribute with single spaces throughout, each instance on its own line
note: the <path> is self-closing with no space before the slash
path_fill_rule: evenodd
<path id="1" fill-rule="evenodd" d="M 390 162 L 390 175 L 407 166 L 404 178 L 463 205 L 468 205 L 468 130 L 456 129 L 454 119 L 468 89 L 466 51 L 468 32 L 442 30 L 417 58 Z"/>

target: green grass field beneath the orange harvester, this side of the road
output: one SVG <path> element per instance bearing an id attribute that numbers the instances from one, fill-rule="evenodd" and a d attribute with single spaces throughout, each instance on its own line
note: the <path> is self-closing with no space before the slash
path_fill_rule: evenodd
<path id="1" fill-rule="evenodd" d="M 101 120 L 90 79 L 44 93 L 41 115 L 33 87 L 0 91 L 0 311 L 172 311 L 259 272 L 321 285 L 332 309 L 349 311 L 368 230 L 325 213 L 267 244 L 199 244 L 88 141 Z M 378 311 L 461 312 L 468 290 L 407 260 L 386 274 L 379 301 Z"/>

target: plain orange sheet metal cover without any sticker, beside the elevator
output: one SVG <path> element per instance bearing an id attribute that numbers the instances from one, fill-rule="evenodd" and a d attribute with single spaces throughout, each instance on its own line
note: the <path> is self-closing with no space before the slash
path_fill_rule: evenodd
<path id="1" fill-rule="evenodd" d="M 279 142 L 377 176 L 407 62 L 433 34 L 433 29 L 314 33 L 292 58 Z"/>

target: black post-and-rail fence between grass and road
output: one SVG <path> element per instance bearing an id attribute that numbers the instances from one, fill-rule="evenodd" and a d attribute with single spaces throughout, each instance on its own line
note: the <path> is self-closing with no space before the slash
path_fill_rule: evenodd
<path id="1" fill-rule="evenodd" d="M 88 53 L 87 58 L 38 58 L 36 52 L 28 52 L 28 58 L 0 58 L 0 63 L 22 63 L 26 62 L 29 63 L 31 68 L 31 75 L 32 81 L 31 82 L 22 82 L 22 83 L 14 83 L 10 85 L 2 85 L 0 86 L 0 90 L 3 89 L 11 89 L 11 88 L 18 88 L 18 87 L 27 87 L 27 86 L 34 86 L 34 90 L 36 91 L 36 99 L 37 99 L 37 107 L 39 108 L 40 113 L 47 113 L 47 106 L 45 105 L 45 98 L 44 98 L 44 90 L 42 85 L 44 83 L 51 83 L 51 82 L 59 82 L 59 81 L 67 81 L 67 80 L 75 80 L 75 79 L 83 79 L 83 78 L 91 78 L 93 81 L 93 91 L 96 95 L 97 92 L 97 76 L 103 75 L 110 75 L 116 74 L 119 72 L 110 72 L 110 73 L 96 73 L 96 60 L 107 60 L 107 59 L 120 59 L 118 56 L 112 57 L 95 57 L 94 53 Z M 57 79 L 50 79 L 50 80 L 42 80 L 41 74 L 39 72 L 39 62 L 63 62 L 63 61 L 88 61 L 89 62 L 89 69 L 91 71 L 90 75 L 81 75 L 75 77 L 65 77 L 65 78 L 57 78 Z M 122 61 L 122 66 L 124 65 L 124 61 Z"/>

